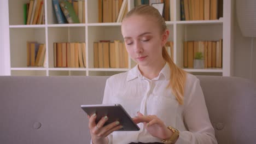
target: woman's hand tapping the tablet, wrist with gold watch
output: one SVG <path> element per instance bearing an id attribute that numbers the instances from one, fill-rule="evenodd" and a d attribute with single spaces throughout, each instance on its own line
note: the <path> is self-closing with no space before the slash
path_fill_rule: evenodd
<path id="1" fill-rule="evenodd" d="M 144 116 L 142 113 L 138 112 L 138 116 L 133 118 L 133 122 L 136 124 L 143 123 L 148 132 L 159 139 L 167 140 L 170 139 L 172 135 L 172 131 L 155 115 Z"/>

